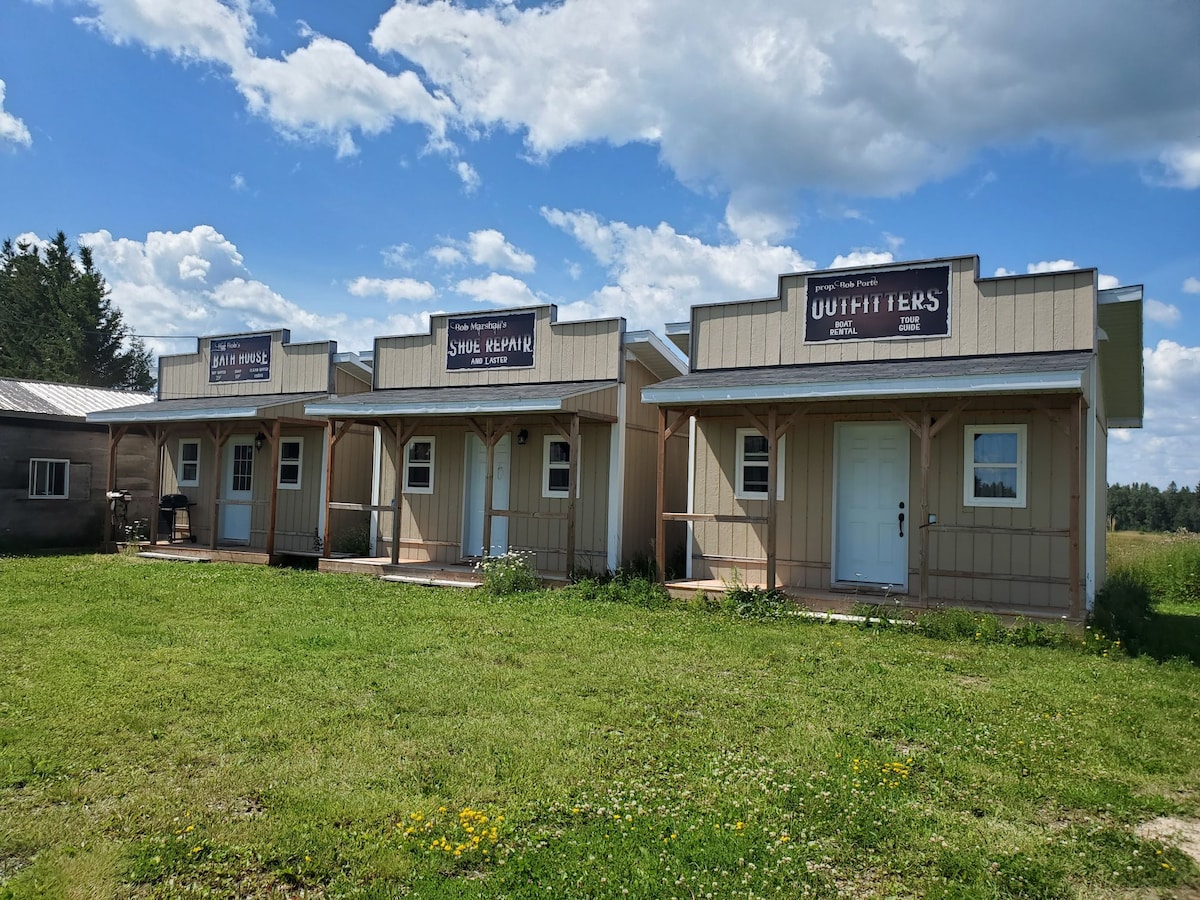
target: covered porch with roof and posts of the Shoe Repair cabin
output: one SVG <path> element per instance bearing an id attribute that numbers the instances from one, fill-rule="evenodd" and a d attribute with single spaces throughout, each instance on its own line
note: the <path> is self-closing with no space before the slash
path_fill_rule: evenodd
<path id="1" fill-rule="evenodd" d="M 332 466 L 349 428 L 374 430 L 372 499 L 326 490 L 325 527 L 368 514 L 371 556 L 323 570 L 462 581 L 474 564 L 532 554 L 542 574 L 607 568 L 614 382 L 376 390 L 308 404 Z"/>

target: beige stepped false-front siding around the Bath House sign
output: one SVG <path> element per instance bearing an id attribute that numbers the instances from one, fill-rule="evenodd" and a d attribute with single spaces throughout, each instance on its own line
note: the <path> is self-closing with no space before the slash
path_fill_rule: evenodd
<path id="1" fill-rule="evenodd" d="M 268 332 L 262 332 L 268 334 Z M 330 389 L 330 341 L 284 343 L 286 332 L 271 331 L 271 377 L 263 382 L 209 383 L 209 346 L 228 337 L 203 337 L 197 353 L 158 359 L 158 398 L 244 397 L 262 394 L 325 394 Z"/>

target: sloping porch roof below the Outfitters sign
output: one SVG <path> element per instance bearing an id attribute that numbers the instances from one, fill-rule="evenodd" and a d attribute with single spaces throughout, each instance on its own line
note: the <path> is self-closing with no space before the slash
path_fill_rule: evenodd
<path id="1" fill-rule="evenodd" d="M 875 362 L 724 368 L 692 372 L 642 389 L 662 407 L 769 401 L 875 400 L 1000 394 L 1082 392 L 1093 355 L 1020 353 Z"/>

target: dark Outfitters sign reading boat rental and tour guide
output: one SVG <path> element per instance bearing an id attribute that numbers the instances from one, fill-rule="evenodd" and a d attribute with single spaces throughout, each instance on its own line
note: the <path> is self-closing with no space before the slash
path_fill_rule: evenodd
<path id="1" fill-rule="evenodd" d="M 805 343 L 946 337 L 950 266 L 809 277 Z"/>

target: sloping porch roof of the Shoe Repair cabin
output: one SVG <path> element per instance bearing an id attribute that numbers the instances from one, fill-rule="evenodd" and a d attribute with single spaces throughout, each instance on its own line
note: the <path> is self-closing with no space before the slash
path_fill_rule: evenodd
<path id="1" fill-rule="evenodd" d="M 570 409 L 566 401 L 574 397 L 608 390 L 617 384 L 617 382 L 551 382 L 462 388 L 397 388 L 307 403 L 305 413 L 329 419 L 558 413 Z"/>

